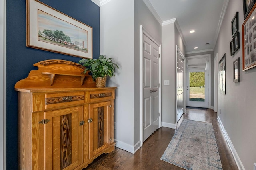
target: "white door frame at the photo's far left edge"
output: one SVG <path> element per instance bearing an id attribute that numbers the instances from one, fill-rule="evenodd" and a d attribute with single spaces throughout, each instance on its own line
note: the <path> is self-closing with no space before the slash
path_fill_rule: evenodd
<path id="1" fill-rule="evenodd" d="M 5 113 L 6 113 L 6 0 L 0 1 L 0 169 L 6 169 Z"/>

